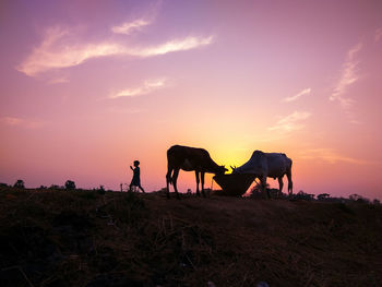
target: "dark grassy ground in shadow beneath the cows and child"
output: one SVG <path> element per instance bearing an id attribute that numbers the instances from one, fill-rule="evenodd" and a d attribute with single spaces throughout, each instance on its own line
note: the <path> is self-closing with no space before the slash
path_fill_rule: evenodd
<path id="1" fill-rule="evenodd" d="M 365 203 L 0 190 L 1 286 L 378 286 L 381 242 Z"/>

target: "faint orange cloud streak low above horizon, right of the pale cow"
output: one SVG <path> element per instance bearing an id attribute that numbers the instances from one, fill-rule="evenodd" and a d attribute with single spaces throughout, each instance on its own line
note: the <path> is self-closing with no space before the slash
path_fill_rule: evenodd
<path id="1" fill-rule="evenodd" d="M 369 165 L 369 164 L 379 164 L 374 162 L 368 162 L 363 159 L 353 158 L 348 156 L 341 155 L 333 148 L 310 148 L 300 151 L 298 154 L 299 158 L 303 159 L 321 159 L 329 164 L 336 164 L 338 162 L 357 164 L 357 165 Z"/>

